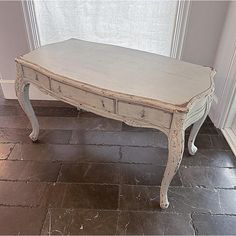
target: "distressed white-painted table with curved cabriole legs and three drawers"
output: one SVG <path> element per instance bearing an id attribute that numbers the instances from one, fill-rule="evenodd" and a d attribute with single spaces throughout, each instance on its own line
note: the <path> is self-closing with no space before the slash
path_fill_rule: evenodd
<path id="1" fill-rule="evenodd" d="M 194 141 L 211 105 L 214 70 L 77 39 L 41 47 L 16 62 L 16 94 L 31 122 L 33 141 L 38 139 L 39 124 L 29 101 L 31 83 L 78 108 L 163 131 L 169 154 L 160 206 L 168 207 L 168 187 L 182 159 L 185 129 L 191 124 L 188 149 L 191 155 L 197 151 Z"/>

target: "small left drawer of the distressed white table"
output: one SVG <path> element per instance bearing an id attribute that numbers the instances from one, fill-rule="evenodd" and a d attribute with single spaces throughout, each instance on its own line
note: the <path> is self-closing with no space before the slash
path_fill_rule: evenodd
<path id="1" fill-rule="evenodd" d="M 33 81 L 38 85 L 41 85 L 44 88 L 50 89 L 49 78 L 42 73 L 34 71 L 28 67 L 23 67 L 24 77 Z"/>

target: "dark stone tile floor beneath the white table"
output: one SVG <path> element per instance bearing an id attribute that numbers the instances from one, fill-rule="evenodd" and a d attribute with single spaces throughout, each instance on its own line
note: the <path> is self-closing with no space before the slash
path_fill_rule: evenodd
<path id="1" fill-rule="evenodd" d="M 236 234 L 236 158 L 209 118 L 161 210 L 164 134 L 32 103 L 37 143 L 18 103 L 0 99 L 0 234 Z"/>

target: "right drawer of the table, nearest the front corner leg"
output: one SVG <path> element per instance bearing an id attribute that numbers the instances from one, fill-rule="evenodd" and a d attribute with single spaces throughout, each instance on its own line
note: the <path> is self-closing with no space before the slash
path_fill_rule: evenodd
<path id="1" fill-rule="evenodd" d="M 118 101 L 118 113 L 121 116 L 146 121 L 153 125 L 170 128 L 172 114 L 151 107 Z"/>

